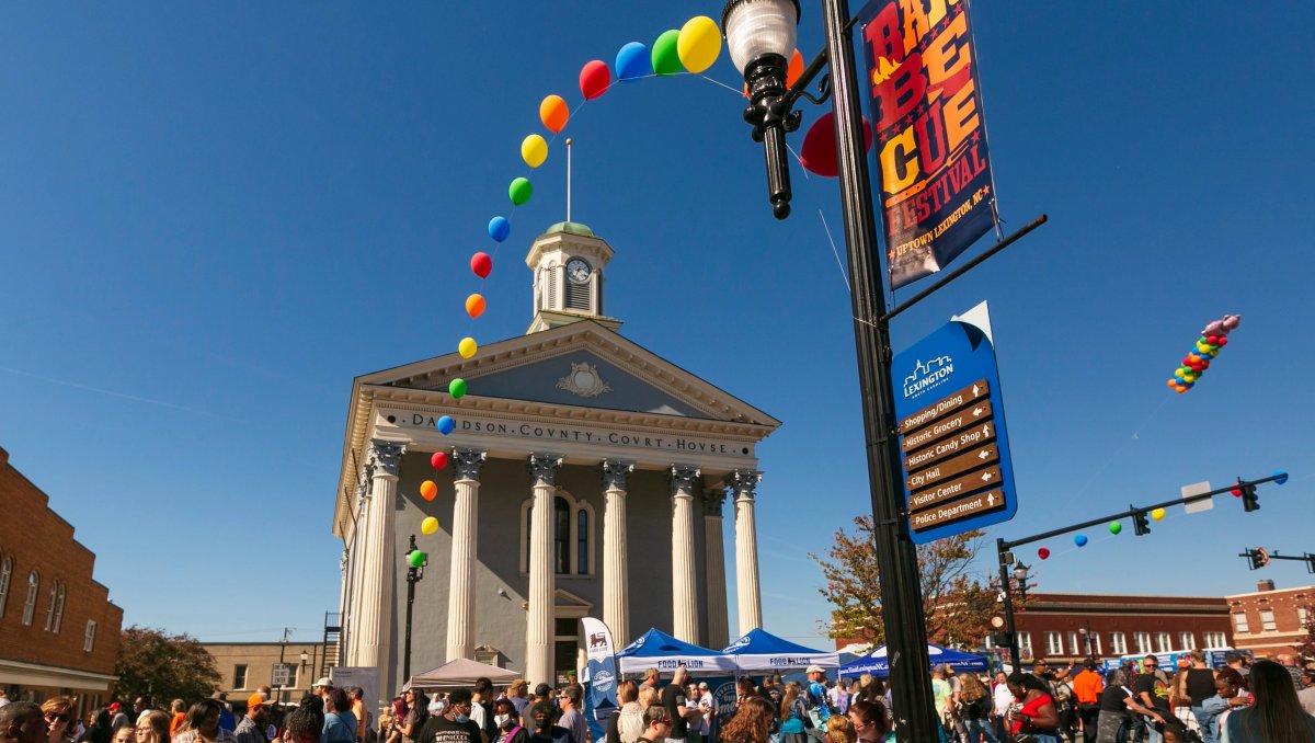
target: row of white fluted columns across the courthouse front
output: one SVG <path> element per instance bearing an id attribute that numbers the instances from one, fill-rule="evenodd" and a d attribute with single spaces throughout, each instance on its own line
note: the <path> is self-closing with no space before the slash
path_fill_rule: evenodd
<path id="1" fill-rule="evenodd" d="M 387 668 L 387 635 L 381 597 L 393 594 L 394 513 L 397 476 L 406 444 L 375 439 L 367 458 L 367 481 L 358 506 L 356 548 L 348 569 L 356 588 L 347 597 L 351 631 L 347 661 L 351 665 Z M 475 565 L 479 537 L 480 467 L 487 454 L 458 448 L 452 454 L 455 502 L 452 509 L 452 554 L 447 604 L 447 660 L 472 658 L 475 651 Z M 552 501 L 562 458 L 531 454 L 529 471 L 534 498 L 530 512 L 530 590 L 526 623 L 526 679 L 552 680 L 555 565 L 552 560 Z M 630 594 L 627 585 L 629 548 L 626 542 L 626 479 L 634 464 L 602 462 L 602 619 L 618 639 L 630 638 Z M 672 498 L 672 613 L 676 638 L 694 644 L 698 636 L 698 576 L 694 560 L 696 467 L 671 467 Z M 726 485 L 735 506 L 735 576 L 739 627 L 743 635 L 763 623 L 757 576 L 757 538 L 753 496 L 761 473 L 751 469 L 731 472 Z M 722 543 L 722 502 L 727 488 L 702 493 L 705 552 L 704 580 L 707 587 L 710 647 L 729 643 L 726 609 L 726 569 Z M 373 604 L 370 609 L 366 606 Z M 371 610 L 373 609 L 373 610 Z"/>

